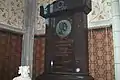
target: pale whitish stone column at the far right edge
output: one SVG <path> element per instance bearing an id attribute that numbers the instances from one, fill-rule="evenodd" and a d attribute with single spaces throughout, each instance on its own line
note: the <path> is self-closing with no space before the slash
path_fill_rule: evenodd
<path id="1" fill-rule="evenodd" d="M 114 44 L 115 80 L 120 80 L 120 6 L 119 0 L 112 0 L 112 27 Z"/>

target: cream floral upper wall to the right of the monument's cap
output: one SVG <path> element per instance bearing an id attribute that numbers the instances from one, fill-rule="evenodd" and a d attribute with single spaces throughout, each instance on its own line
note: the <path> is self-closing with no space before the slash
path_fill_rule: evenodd
<path id="1" fill-rule="evenodd" d="M 92 0 L 92 11 L 88 15 L 88 22 L 109 20 L 111 16 L 111 0 Z"/>

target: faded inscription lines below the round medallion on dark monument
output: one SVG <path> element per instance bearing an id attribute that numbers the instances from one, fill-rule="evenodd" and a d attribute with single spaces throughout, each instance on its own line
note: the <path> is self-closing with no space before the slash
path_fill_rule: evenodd
<path id="1" fill-rule="evenodd" d="M 72 72 L 73 69 L 73 40 L 60 39 L 55 42 L 53 71 Z"/>

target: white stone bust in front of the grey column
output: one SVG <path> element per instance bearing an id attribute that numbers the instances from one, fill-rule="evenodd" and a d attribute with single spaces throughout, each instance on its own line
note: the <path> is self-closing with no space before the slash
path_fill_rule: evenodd
<path id="1" fill-rule="evenodd" d="M 31 80 L 29 73 L 29 66 L 20 66 L 18 71 L 20 76 L 13 78 L 13 80 Z"/>

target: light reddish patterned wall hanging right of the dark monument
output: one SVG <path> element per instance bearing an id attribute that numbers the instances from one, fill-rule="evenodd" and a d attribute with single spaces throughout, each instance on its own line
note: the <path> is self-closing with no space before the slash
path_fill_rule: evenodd
<path id="1" fill-rule="evenodd" d="M 114 80 L 112 28 L 90 29 L 89 71 L 95 80 Z"/>

